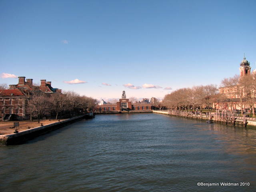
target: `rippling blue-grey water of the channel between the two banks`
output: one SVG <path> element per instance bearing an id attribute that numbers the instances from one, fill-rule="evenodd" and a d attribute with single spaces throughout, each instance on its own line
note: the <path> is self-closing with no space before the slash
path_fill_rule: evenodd
<path id="1" fill-rule="evenodd" d="M 1 192 L 255 191 L 255 178 L 256 130 L 160 114 L 97 115 L 0 147 Z"/>

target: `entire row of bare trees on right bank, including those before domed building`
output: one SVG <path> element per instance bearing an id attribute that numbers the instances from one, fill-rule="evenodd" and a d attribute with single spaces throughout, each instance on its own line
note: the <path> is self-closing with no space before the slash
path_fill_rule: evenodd
<path id="1" fill-rule="evenodd" d="M 220 93 L 217 86 L 213 84 L 181 88 L 167 94 L 162 105 L 179 110 L 192 108 L 194 111 L 195 108 L 202 110 L 203 106 L 216 108 L 218 104 L 221 109 L 230 110 L 232 113 L 234 108 L 239 106 L 242 114 L 246 108 L 250 108 L 255 116 L 256 74 L 224 78 L 220 87 Z"/>

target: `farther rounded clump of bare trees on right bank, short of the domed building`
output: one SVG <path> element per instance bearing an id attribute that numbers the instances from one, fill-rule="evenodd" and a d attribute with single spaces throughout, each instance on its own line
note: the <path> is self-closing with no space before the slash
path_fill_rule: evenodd
<path id="1" fill-rule="evenodd" d="M 164 96 L 162 105 L 170 109 L 200 108 L 212 106 L 212 96 L 217 94 L 217 86 L 214 84 L 194 86 L 192 88 L 181 88 Z"/>

